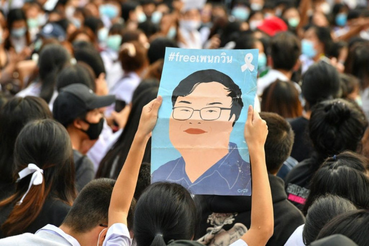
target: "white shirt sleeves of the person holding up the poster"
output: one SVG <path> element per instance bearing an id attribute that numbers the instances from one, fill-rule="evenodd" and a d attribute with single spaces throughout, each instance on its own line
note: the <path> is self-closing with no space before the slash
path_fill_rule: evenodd
<path id="1" fill-rule="evenodd" d="M 123 223 L 115 223 L 109 227 L 103 246 L 131 246 L 132 240 L 129 236 L 127 225 Z M 238 239 L 230 246 L 248 246 L 247 243 Z"/>

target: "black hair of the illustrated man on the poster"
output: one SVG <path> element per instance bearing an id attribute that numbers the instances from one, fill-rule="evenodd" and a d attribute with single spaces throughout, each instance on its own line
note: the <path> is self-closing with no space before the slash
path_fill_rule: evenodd
<path id="1" fill-rule="evenodd" d="M 178 96 L 187 96 L 191 94 L 199 84 L 210 82 L 221 83 L 228 89 L 229 94 L 227 96 L 232 98 L 230 119 L 235 115 L 235 121 L 232 125 L 234 126 L 240 116 L 242 107 L 244 106 L 244 103 L 242 102 L 242 92 L 240 87 L 231 79 L 230 76 L 215 69 L 196 71 L 182 79 L 173 90 L 173 94 L 171 96 L 173 106 Z"/>

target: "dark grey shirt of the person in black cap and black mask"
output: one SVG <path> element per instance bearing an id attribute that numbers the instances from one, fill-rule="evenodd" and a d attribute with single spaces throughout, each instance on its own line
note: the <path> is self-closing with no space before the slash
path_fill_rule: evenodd
<path id="1" fill-rule="evenodd" d="M 77 150 L 73 150 L 73 159 L 76 169 L 76 189 L 78 192 L 80 192 L 88 182 L 94 179 L 94 164 L 90 158 L 82 155 Z"/>

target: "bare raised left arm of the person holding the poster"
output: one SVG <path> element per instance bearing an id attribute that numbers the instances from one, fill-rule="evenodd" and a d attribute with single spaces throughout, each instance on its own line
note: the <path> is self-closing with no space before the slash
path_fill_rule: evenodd
<path id="1" fill-rule="evenodd" d="M 162 98 L 158 96 L 142 108 L 141 118 L 123 168 L 114 185 L 109 206 L 110 227 L 114 223 L 127 224 L 127 215 L 141 166 L 143 154 L 152 129 L 156 124 L 157 112 Z"/>

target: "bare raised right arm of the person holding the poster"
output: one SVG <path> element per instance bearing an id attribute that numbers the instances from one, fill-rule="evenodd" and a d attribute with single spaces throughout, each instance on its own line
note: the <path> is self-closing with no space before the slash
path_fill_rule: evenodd
<path id="1" fill-rule="evenodd" d="M 252 200 L 250 229 L 241 237 L 248 246 L 265 245 L 273 235 L 274 216 L 265 164 L 264 144 L 268 127 L 259 113 L 249 106 L 245 125 L 245 140 L 249 148 L 252 174 Z"/>

